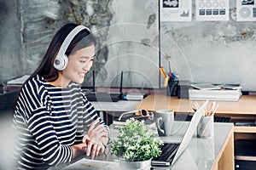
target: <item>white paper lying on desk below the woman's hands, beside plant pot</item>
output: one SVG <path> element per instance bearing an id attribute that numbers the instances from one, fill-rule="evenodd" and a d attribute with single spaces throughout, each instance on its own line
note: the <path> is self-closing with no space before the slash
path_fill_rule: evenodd
<path id="1" fill-rule="evenodd" d="M 119 162 L 115 161 L 96 161 L 90 159 L 81 159 L 79 161 L 74 162 L 73 164 L 63 168 L 63 170 L 70 170 L 70 169 L 86 169 L 86 170 L 96 170 L 96 169 L 119 169 Z"/>

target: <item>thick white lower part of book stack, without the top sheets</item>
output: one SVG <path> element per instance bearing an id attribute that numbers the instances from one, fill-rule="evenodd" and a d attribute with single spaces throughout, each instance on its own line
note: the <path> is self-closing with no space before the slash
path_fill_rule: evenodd
<path id="1" fill-rule="evenodd" d="M 189 88 L 189 99 L 191 100 L 227 100 L 238 101 L 241 97 L 241 89 L 231 90 L 199 90 Z"/>

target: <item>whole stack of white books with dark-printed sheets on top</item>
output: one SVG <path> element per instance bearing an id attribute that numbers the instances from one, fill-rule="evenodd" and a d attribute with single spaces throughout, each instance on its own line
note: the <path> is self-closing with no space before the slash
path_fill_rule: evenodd
<path id="1" fill-rule="evenodd" d="M 241 97 L 241 86 L 233 84 L 191 84 L 189 99 L 191 100 L 227 100 L 238 101 Z"/>

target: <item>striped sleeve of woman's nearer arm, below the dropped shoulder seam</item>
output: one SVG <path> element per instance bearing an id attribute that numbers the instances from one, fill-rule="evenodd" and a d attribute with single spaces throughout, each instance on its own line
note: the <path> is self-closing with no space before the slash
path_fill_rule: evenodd
<path id="1" fill-rule="evenodd" d="M 32 112 L 27 127 L 38 144 L 44 162 L 53 166 L 72 161 L 73 150 L 67 145 L 60 144 L 45 108 L 40 107 Z"/>

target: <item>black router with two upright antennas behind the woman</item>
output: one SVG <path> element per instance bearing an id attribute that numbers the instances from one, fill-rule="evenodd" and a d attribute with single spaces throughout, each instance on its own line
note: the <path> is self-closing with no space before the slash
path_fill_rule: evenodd
<path id="1" fill-rule="evenodd" d="M 121 72 L 121 80 L 120 80 L 120 88 L 119 92 L 117 93 L 102 93 L 102 92 L 96 92 L 96 86 L 95 86 L 95 73 L 93 71 L 93 91 L 85 94 L 87 99 L 89 101 L 108 101 L 108 102 L 117 102 L 122 99 L 123 97 L 123 71 Z"/>

